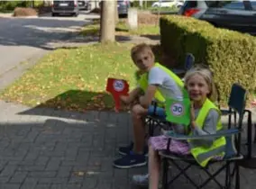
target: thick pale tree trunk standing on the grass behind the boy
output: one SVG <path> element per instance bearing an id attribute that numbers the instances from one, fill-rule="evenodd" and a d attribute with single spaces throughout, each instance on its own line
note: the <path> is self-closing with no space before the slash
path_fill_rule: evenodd
<path id="1" fill-rule="evenodd" d="M 100 42 L 114 42 L 114 1 L 102 1 Z"/>

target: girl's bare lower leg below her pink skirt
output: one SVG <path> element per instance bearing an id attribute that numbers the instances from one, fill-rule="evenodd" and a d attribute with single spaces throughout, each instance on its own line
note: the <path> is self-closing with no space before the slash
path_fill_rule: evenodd
<path id="1" fill-rule="evenodd" d="M 149 151 L 150 189 L 158 189 L 160 180 L 160 157 L 158 151 L 150 146 Z"/>

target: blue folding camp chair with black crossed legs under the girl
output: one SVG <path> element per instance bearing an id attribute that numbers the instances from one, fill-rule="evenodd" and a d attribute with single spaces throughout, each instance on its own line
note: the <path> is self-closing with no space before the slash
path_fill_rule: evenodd
<path id="1" fill-rule="evenodd" d="M 189 180 L 190 184 L 194 185 L 195 188 L 203 188 L 210 181 L 215 181 L 220 188 L 230 189 L 232 188 L 233 178 L 235 178 L 235 189 L 240 189 L 240 169 L 239 169 L 239 161 L 244 158 L 241 153 L 241 131 L 242 131 L 242 120 L 244 115 L 244 107 L 246 102 L 246 91 L 242 88 L 242 86 L 234 84 L 232 86 L 232 91 L 229 98 L 229 112 L 235 111 L 239 114 L 238 124 L 234 124 L 233 128 L 231 128 L 231 124 L 228 125 L 227 130 L 218 131 L 216 134 L 204 135 L 204 136 L 186 136 L 174 134 L 172 132 L 167 132 L 166 135 L 170 139 L 215 139 L 218 137 L 224 136 L 226 139 L 225 146 L 225 157 L 222 160 L 213 159 L 211 160 L 206 167 L 199 166 L 197 161 L 192 156 L 180 156 L 176 154 L 172 154 L 169 152 L 169 144 L 166 150 L 160 151 L 160 157 L 162 157 L 162 188 L 167 189 L 169 184 L 172 184 L 180 175 L 184 175 L 187 180 Z M 232 116 L 233 113 L 229 113 L 229 116 Z M 231 121 L 231 119 L 229 119 Z M 250 137 L 249 137 L 250 138 Z M 248 139 L 250 140 L 250 139 Z M 186 167 L 181 167 L 178 162 L 186 162 Z M 215 165 L 216 163 L 220 163 L 221 167 L 215 171 L 215 173 L 210 173 L 209 167 Z M 172 177 L 169 181 L 169 163 L 174 165 L 180 171 L 178 175 Z M 231 167 L 233 164 L 233 167 Z M 202 169 L 206 175 L 209 177 L 202 183 L 196 184 L 195 180 L 191 178 L 187 174 L 187 169 L 191 166 L 197 166 L 197 168 Z M 216 178 L 223 170 L 225 169 L 225 182 L 221 184 Z M 171 170 L 170 170 L 171 171 Z"/>

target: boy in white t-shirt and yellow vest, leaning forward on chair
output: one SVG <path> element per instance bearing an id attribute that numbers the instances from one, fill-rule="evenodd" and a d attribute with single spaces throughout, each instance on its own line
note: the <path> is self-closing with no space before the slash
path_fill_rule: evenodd
<path id="1" fill-rule="evenodd" d="M 119 153 L 124 155 L 114 160 L 114 166 L 119 168 L 146 165 L 144 118 L 148 114 L 152 100 L 154 98 L 158 100 L 159 95 L 156 94 L 161 94 L 164 98 L 171 96 L 177 100 L 183 99 L 181 79 L 166 67 L 155 63 L 154 54 L 149 45 L 145 43 L 136 45 L 131 50 L 131 57 L 147 80 L 146 88 L 141 82 L 128 96 L 121 96 L 123 103 L 133 103 L 138 97 L 139 103 L 134 104 L 132 108 L 134 145 L 132 143 L 127 147 L 119 148 Z M 142 92 L 144 95 L 139 96 Z"/>

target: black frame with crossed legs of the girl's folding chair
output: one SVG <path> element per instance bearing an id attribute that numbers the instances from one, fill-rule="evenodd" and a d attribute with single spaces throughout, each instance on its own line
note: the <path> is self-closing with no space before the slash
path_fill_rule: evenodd
<path id="1" fill-rule="evenodd" d="M 241 103 L 237 105 L 233 105 L 233 102 L 235 99 L 235 92 L 239 88 L 239 90 L 242 90 L 242 96 L 241 95 Z M 225 157 L 222 160 L 211 160 L 206 167 L 199 166 L 192 156 L 179 156 L 176 154 L 173 154 L 169 152 L 169 144 L 171 139 L 175 138 L 169 138 L 168 142 L 168 148 L 166 150 L 160 151 L 160 157 L 162 158 L 162 188 L 167 189 L 169 188 L 169 184 L 172 184 L 180 175 L 184 175 L 187 180 L 195 186 L 195 188 L 203 188 L 208 184 L 210 181 L 215 181 L 215 184 L 217 184 L 220 188 L 223 189 L 231 189 L 233 184 L 233 178 L 235 179 L 235 189 L 240 189 L 240 166 L 242 161 L 246 161 L 251 158 L 251 112 L 248 110 L 245 110 L 245 101 L 246 101 L 246 91 L 240 86 L 240 85 L 233 85 L 232 93 L 229 99 L 229 110 L 228 110 L 228 130 L 231 130 L 231 127 L 233 126 L 233 131 L 225 132 L 222 135 L 215 134 L 215 137 L 225 136 L 225 137 L 233 137 L 234 138 L 234 146 L 236 148 L 236 155 L 233 157 Z M 236 102 L 237 103 L 237 102 Z M 239 114 L 239 120 L 238 124 L 236 123 L 236 112 Z M 248 113 L 248 120 L 247 120 L 247 143 L 248 143 L 248 149 L 247 154 L 242 155 L 241 153 L 241 140 L 242 140 L 242 121 L 243 116 L 245 113 Z M 234 117 L 234 123 L 232 124 L 232 117 Z M 209 136 L 210 137 L 210 136 Z M 213 136 L 212 136 L 213 137 Z M 205 136 L 206 138 L 206 136 Z M 192 139 L 192 138 L 191 138 Z M 178 164 L 178 161 L 187 162 L 188 165 L 185 167 L 181 167 Z M 222 162 L 224 165 L 218 168 L 215 173 L 210 173 L 209 167 L 214 165 L 215 163 Z M 176 166 L 179 170 L 178 175 L 174 176 L 170 181 L 169 179 L 169 163 Z M 231 167 L 232 164 L 234 165 L 233 168 Z M 187 175 L 187 169 L 191 166 L 197 166 L 197 168 L 200 168 L 204 170 L 206 175 L 209 177 L 202 183 L 202 184 L 196 184 L 191 176 Z M 225 182 L 224 184 L 221 184 L 217 179 L 216 175 L 219 175 L 222 171 L 225 170 Z"/>

